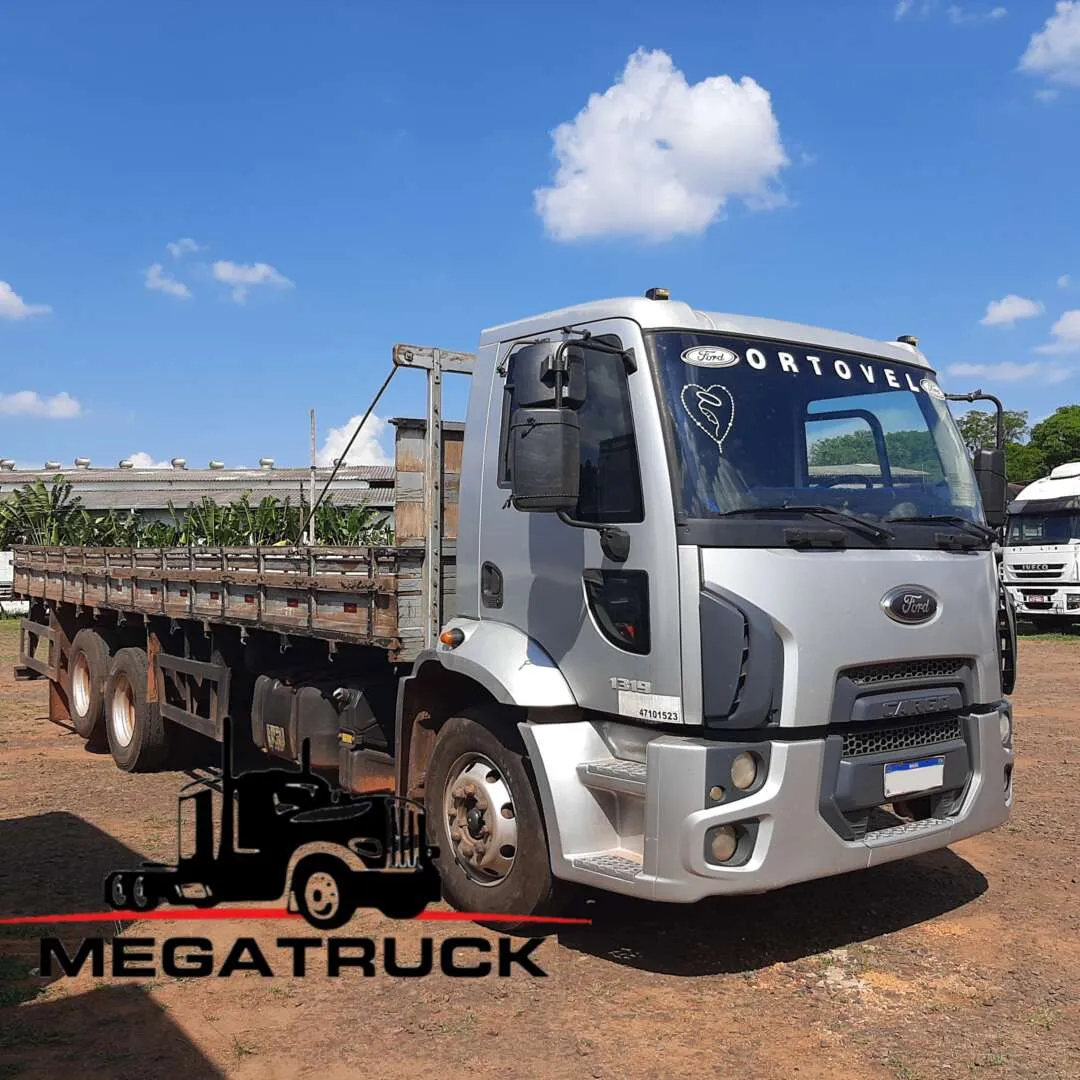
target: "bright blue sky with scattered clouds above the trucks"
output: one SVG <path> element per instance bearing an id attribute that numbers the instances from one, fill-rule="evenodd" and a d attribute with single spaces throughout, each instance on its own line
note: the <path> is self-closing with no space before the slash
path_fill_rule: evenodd
<path id="1" fill-rule="evenodd" d="M 36 0 L 0 93 L 21 463 L 303 463 L 395 341 L 651 285 L 1080 401 L 1080 2 Z"/>

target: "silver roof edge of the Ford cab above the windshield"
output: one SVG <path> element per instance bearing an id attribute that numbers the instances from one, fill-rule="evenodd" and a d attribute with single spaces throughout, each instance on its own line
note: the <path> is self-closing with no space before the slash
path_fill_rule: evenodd
<path id="1" fill-rule="evenodd" d="M 759 319 L 756 315 L 732 315 L 718 311 L 698 311 L 680 300 L 648 300 L 643 297 L 620 297 L 611 300 L 593 300 L 561 308 L 542 315 L 532 315 L 501 326 L 492 326 L 481 335 L 481 346 L 510 341 L 535 334 L 550 333 L 563 326 L 581 326 L 604 319 L 630 319 L 642 329 L 681 329 L 691 333 L 718 332 L 744 337 L 792 341 L 853 352 L 867 356 L 892 360 L 930 368 L 927 357 L 914 346 L 901 341 L 877 341 L 874 338 L 805 326 L 778 319 Z"/>

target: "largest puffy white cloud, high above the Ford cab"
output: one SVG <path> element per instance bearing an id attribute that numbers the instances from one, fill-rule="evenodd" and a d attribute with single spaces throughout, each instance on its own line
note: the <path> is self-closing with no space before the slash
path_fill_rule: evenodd
<path id="1" fill-rule="evenodd" d="M 552 133 L 558 168 L 534 192 L 556 240 L 704 232 L 742 198 L 755 207 L 788 161 L 768 91 L 713 76 L 690 85 L 664 52 L 638 50 L 622 75 Z"/>

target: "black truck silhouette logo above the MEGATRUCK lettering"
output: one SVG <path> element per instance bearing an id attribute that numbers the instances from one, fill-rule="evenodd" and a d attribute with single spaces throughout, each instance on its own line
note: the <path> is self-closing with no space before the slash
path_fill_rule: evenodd
<path id="1" fill-rule="evenodd" d="M 415 918 L 442 899 L 427 843 L 422 808 L 391 795 L 350 795 L 312 772 L 310 746 L 300 770 L 233 774 L 231 724 L 221 744 L 221 810 L 214 838 L 214 780 L 179 795 L 180 843 L 173 866 L 144 863 L 105 880 L 105 900 L 118 910 L 149 912 L 159 904 L 213 907 L 283 895 L 291 909 L 320 930 L 345 926 L 357 907 L 395 919 Z M 186 818 L 194 848 L 184 851 Z"/>

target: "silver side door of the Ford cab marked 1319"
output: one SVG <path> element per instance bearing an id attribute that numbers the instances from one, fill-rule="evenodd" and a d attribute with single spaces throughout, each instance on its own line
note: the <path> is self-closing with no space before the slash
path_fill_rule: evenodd
<path id="1" fill-rule="evenodd" d="M 483 484 L 480 616 L 532 638 L 583 708 L 679 724 L 678 569 L 656 391 L 636 324 L 608 320 L 588 329 L 632 355 L 570 336 L 584 369 L 576 408 L 580 495 L 565 515 L 570 521 L 511 505 L 508 434 L 522 343 L 500 347 Z M 545 337 L 564 339 L 539 335 Z M 612 531 L 605 537 L 605 529 Z"/>

